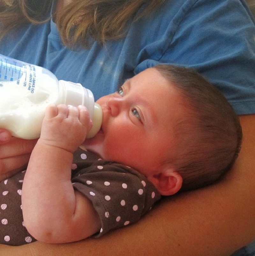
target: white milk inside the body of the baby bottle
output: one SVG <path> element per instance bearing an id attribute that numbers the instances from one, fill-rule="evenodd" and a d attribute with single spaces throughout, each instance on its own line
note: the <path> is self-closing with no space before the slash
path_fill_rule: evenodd
<path id="1" fill-rule="evenodd" d="M 58 103 L 55 84 L 56 80 L 47 74 L 38 78 L 23 75 L 19 80 L 1 81 L 0 127 L 16 137 L 39 138 L 46 106 Z"/>

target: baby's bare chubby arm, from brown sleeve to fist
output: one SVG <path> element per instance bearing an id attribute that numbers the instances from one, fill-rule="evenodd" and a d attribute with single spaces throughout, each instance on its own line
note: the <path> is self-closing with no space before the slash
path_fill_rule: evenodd
<path id="1" fill-rule="evenodd" d="M 86 238 L 100 229 L 91 202 L 73 189 L 73 152 L 91 127 L 88 111 L 65 105 L 46 110 L 22 187 L 25 227 L 37 240 L 65 243 Z"/>

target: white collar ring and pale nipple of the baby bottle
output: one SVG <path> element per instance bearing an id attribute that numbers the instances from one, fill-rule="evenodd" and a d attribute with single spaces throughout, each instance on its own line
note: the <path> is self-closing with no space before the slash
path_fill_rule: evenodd
<path id="1" fill-rule="evenodd" d="M 94 95 L 91 90 L 84 88 L 81 84 L 69 81 L 59 80 L 60 88 L 63 90 L 63 103 L 71 106 L 84 105 L 90 114 L 93 122 L 91 130 L 86 138 L 94 137 L 101 128 L 103 111 L 97 103 L 95 103 Z"/>

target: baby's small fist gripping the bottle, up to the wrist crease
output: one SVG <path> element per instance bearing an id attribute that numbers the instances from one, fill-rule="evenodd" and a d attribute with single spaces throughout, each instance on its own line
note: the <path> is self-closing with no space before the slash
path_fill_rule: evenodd
<path id="1" fill-rule="evenodd" d="M 40 140 L 73 153 L 92 127 L 84 106 L 49 105 L 42 123 Z"/>

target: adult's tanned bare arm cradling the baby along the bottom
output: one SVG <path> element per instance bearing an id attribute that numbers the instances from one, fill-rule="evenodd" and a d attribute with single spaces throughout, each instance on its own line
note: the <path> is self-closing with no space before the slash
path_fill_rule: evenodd
<path id="1" fill-rule="evenodd" d="M 240 121 L 243 146 L 221 182 L 164 199 L 139 222 L 98 239 L 0 245 L 0 254 L 229 256 L 255 237 L 255 115 L 240 116 Z"/>

